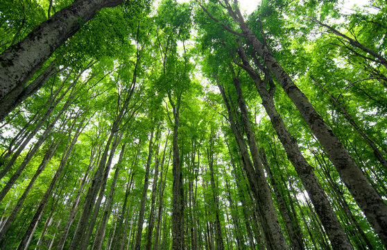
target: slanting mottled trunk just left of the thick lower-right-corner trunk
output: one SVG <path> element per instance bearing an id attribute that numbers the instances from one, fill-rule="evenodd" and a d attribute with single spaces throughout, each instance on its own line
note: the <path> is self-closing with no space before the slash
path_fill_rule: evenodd
<path id="1" fill-rule="evenodd" d="M 268 116 L 270 117 L 270 122 L 273 124 L 278 138 L 284 146 L 286 156 L 295 167 L 298 176 L 300 176 L 302 185 L 304 185 L 305 190 L 307 190 L 309 197 L 313 202 L 313 206 L 318 213 L 318 217 L 320 218 L 325 231 L 327 232 L 329 240 L 331 240 L 332 246 L 334 249 L 353 249 L 350 243 L 350 239 L 343 231 L 340 222 L 338 222 L 334 210 L 329 204 L 327 195 L 325 194 L 324 189 L 318 182 L 318 179 L 313 172 L 313 168 L 309 165 L 304 156 L 302 156 L 302 153 L 298 148 L 297 141 L 295 138 L 293 138 L 291 133 L 289 133 L 284 124 L 284 121 L 282 120 L 282 117 L 279 115 L 279 113 L 277 113 L 277 109 L 275 108 L 273 102 L 273 94 L 275 92 L 275 85 L 273 80 L 268 74 L 266 74 L 266 78 L 270 84 L 270 90 L 267 90 L 266 82 L 261 81 L 260 76 L 255 73 L 254 69 L 252 69 L 248 63 L 248 58 L 242 47 L 239 47 L 239 56 L 243 60 L 243 67 L 255 81 L 257 91 L 259 92 L 259 95 L 262 99 L 262 104 L 266 110 L 266 113 L 268 113 Z M 246 113 L 246 105 L 244 104 L 239 79 L 234 78 L 234 85 L 239 97 L 239 101 L 241 102 L 242 113 Z M 246 117 L 246 119 L 248 119 L 248 117 Z"/>

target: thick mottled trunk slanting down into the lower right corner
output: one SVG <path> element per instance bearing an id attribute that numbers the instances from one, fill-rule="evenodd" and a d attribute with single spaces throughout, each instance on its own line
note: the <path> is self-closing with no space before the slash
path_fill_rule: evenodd
<path id="1" fill-rule="evenodd" d="M 307 97 L 293 83 L 291 77 L 274 58 L 266 44 L 260 42 L 257 36 L 250 30 L 244 21 L 238 7 L 232 10 L 228 0 L 225 0 L 227 12 L 238 22 L 246 38 L 255 52 L 263 58 L 266 67 L 273 73 L 288 97 L 293 101 L 295 107 L 300 111 L 302 118 L 307 122 L 309 128 L 322 147 L 327 151 L 329 160 L 335 165 L 341 179 L 350 190 L 352 197 L 356 200 L 365 217 L 377 232 L 381 242 L 387 246 L 387 205 L 379 197 L 379 194 L 368 183 L 367 179 L 356 165 L 350 153 L 343 147 L 340 140 L 336 138 L 332 129 L 327 126 L 322 117 L 313 108 Z M 264 35 L 264 34 L 262 34 Z"/>

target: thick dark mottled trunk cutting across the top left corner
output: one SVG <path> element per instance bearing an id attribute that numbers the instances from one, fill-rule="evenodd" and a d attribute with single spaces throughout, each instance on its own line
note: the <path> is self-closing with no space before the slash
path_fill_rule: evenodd
<path id="1" fill-rule="evenodd" d="M 14 88 L 24 87 L 55 49 L 79 30 L 79 20 L 86 23 L 97 10 L 120 3 L 122 0 L 74 1 L 4 51 L 0 56 L 0 106 L 3 106 L 3 102 L 7 103 L 7 95 Z"/>

